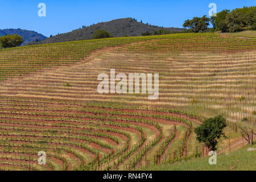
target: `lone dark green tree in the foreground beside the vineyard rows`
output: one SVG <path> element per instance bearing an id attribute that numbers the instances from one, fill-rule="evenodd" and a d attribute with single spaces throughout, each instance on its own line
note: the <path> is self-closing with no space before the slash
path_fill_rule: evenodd
<path id="1" fill-rule="evenodd" d="M 196 139 L 204 143 L 210 150 L 216 151 L 217 144 L 222 137 L 226 138 L 224 128 L 226 127 L 226 119 L 221 115 L 215 118 L 206 119 L 202 125 L 195 128 Z"/>

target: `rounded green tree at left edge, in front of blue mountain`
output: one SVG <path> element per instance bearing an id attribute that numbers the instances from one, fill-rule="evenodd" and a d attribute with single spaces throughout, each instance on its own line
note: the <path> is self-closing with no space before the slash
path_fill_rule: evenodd
<path id="1" fill-rule="evenodd" d="M 23 37 L 17 34 L 15 35 L 6 35 L 0 37 L 0 47 L 9 48 L 20 46 L 24 42 Z"/>

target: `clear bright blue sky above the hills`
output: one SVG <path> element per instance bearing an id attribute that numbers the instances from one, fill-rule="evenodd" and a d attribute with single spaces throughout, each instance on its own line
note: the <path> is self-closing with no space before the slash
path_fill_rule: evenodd
<path id="1" fill-rule="evenodd" d="M 208 5 L 212 2 L 216 3 L 217 12 L 256 4 L 255 0 L 0 0 L 0 29 L 22 28 L 49 36 L 82 25 L 127 17 L 152 25 L 181 28 L 185 19 L 208 15 Z M 46 4 L 46 17 L 38 16 L 39 3 Z"/>

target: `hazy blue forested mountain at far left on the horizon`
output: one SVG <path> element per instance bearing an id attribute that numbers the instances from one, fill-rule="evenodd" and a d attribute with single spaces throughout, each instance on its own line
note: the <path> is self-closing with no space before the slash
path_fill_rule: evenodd
<path id="1" fill-rule="evenodd" d="M 29 42 L 35 42 L 36 39 L 38 41 L 47 39 L 46 36 L 39 34 L 38 32 L 31 31 L 31 30 L 22 30 L 20 28 L 17 28 L 17 29 L 9 28 L 9 29 L 0 30 L 0 36 L 5 36 L 7 34 L 10 34 L 10 35 L 18 34 L 19 36 L 23 36 L 23 39 L 24 39 L 23 44 L 26 44 Z"/>

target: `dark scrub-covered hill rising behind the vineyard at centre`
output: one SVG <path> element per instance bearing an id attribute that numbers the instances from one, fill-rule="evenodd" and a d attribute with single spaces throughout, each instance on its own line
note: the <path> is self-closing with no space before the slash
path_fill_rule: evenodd
<path id="1" fill-rule="evenodd" d="M 184 28 L 164 28 L 159 26 L 151 26 L 142 22 L 137 22 L 133 18 L 121 18 L 115 19 L 110 22 L 101 22 L 93 24 L 91 26 L 79 28 L 78 30 L 73 30 L 65 34 L 58 34 L 52 36 L 51 38 L 45 39 L 42 42 L 33 42 L 28 43 L 26 46 L 34 44 L 48 44 L 48 43 L 59 43 L 59 42 L 69 42 L 75 40 L 88 40 L 93 38 L 93 34 L 96 30 L 106 30 L 110 32 L 114 37 L 123 37 L 127 36 L 141 36 L 143 32 L 158 31 L 160 29 L 169 30 L 169 31 L 183 31 Z"/>

